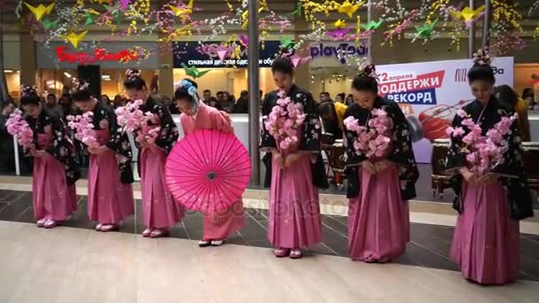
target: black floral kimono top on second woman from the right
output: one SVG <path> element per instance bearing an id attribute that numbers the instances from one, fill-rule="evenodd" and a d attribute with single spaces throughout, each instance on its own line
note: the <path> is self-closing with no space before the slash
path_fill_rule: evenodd
<path id="1" fill-rule="evenodd" d="M 402 199 L 407 201 L 416 198 L 416 183 L 418 182 L 419 171 L 414 151 L 412 150 L 408 120 L 406 120 L 399 105 L 394 103 L 394 101 L 377 97 L 374 101 L 373 108 L 384 110 L 387 116 L 393 120 L 394 129 L 393 137 L 391 138 L 393 151 L 391 151 L 386 159 L 398 165 Z M 354 104 L 348 106 L 344 119 L 353 116 L 358 120 L 359 125 L 368 127 L 368 120 L 371 118 L 370 113 L 371 111 Z M 344 136 L 346 140 L 346 174 L 348 177 L 347 197 L 357 198 L 361 184 L 358 174 L 359 164 L 366 158 L 363 155 L 357 155 L 355 153 L 355 133 L 345 128 Z"/>

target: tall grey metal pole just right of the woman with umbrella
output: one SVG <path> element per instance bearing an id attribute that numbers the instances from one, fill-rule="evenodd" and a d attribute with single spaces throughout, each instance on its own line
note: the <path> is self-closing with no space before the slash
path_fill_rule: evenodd
<path id="1" fill-rule="evenodd" d="M 258 0 L 249 0 L 249 48 L 247 49 L 248 81 L 249 81 L 249 150 L 251 151 L 251 184 L 260 185 L 260 85 L 259 64 L 260 57 L 258 43 Z"/>

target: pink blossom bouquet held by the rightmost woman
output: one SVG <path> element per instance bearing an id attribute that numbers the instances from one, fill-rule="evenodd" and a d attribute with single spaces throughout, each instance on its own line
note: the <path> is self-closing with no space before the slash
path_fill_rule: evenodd
<path id="1" fill-rule="evenodd" d="M 488 174 L 492 168 L 504 164 L 504 153 L 508 148 L 504 136 L 509 134 L 512 123 L 517 120 L 518 115 L 515 113 L 511 117 L 502 117 L 494 128 L 488 130 L 487 136 L 481 136 L 479 124 L 473 122 L 464 110 L 459 110 L 457 114 L 464 119 L 462 121 L 464 128 L 449 128 L 447 132 L 452 138 L 462 137 L 461 152 L 465 155 L 470 169 L 481 176 Z M 469 130 L 467 135 L 465 128 Z"/>

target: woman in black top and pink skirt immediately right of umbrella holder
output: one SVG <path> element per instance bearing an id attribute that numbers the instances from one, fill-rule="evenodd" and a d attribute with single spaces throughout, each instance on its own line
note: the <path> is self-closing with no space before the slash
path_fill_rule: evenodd
<path id="1" fill-rule="evenodd" d="M 320 155 L 322 129 L 312 95 L 293 83 L 291 60 L 277 58 L 271 72 L 278 90 L 264 100 L 262 125 L 284 97 L 290 97 L 294 105 L 301 107 L 306 118 L 297 128 L 298 142 L 289 148 L 283 148 L 283 141 L 262 128 L 261 147 L 272 155 L 268 163 L 271 178 L 268 237 L 277 258 L 300 259 L 303 248 L 322 241 L 318 188 L 328 186 Z"/>

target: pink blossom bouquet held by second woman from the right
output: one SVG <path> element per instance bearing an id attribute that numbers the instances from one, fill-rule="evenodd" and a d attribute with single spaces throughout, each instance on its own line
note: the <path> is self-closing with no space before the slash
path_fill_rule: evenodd
<path id="1" fill-rule="evenodd" d="M 357 155 L 380 159 L 386 157 L 390 150 L 394 124 L 382 109 L 373 109 L 371 116 L 373 118 L 369 120 L 368 127 L 359 125 L 358 120 L 352 116 L 344 120 L 344 125 L 356 135 L 353 144 Z"/>

